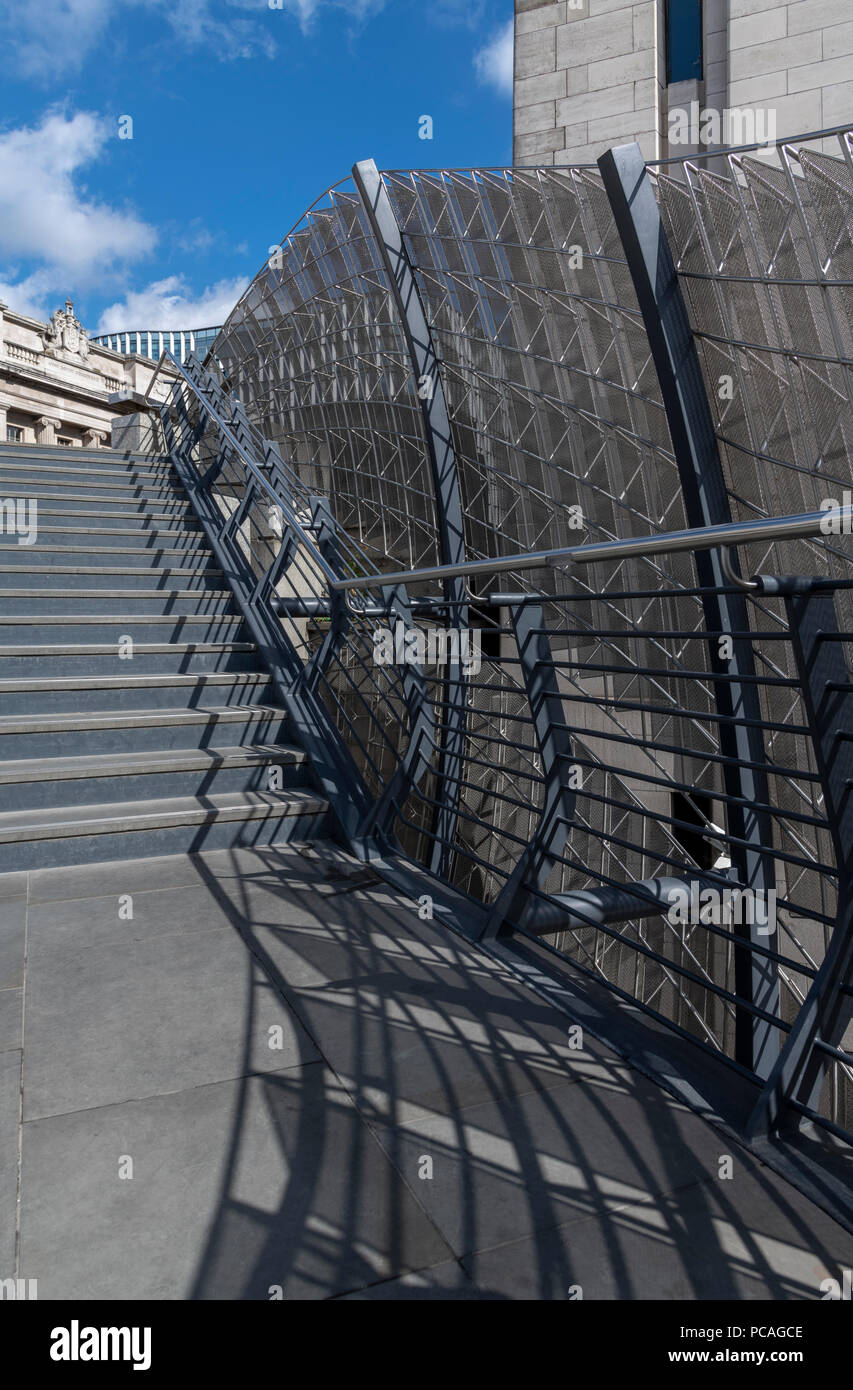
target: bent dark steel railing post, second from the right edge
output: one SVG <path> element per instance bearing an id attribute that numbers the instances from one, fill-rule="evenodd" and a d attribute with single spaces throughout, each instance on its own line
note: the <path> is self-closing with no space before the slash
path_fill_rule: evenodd
<path id="1" fill-rule="evenodd" d="M 489 913 L 482 937 L 500 933 L 507 917 L 524 924 L 524 909 L 529 901 L 529 885 L 543 888 L 554 865 L 554 858 L 568 838 L 568 827 L 575 813 L 575 794 L 565 781 L 571 759 L 571 735 L 563 716 L 563 701 L 552 645 L 545 631 L 540 603 L 513 602 L 524 595 L 495 595 L 510 613 L 518 664 L 524 680 L 536 745 L 542 759 L 545 791 L 533 837 L 503 885 Z"/>

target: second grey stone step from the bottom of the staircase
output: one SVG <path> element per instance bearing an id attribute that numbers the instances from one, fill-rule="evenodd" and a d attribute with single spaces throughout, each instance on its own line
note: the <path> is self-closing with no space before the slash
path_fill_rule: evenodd
<path id="1" fill-rule="evenodd" d="M 288 744 L 24 758 L 0 763 L 0 805 L 4 810 L 38 810 L 211 791 L 290 791 L 304 785 L 306 766 L 303 751 Z"/>

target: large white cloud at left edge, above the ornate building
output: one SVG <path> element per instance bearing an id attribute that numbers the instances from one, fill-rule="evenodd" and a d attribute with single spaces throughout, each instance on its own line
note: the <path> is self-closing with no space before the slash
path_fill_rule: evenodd
<path id="1" fill-rule="evenodd" d="M 42 261 L 42 284 L 53 275 L 57 285 L 85 286 L 153 249 L 153 227 L 75 186 L 113 133 L 90 111 L 51 111 L 38 126 L 0 133 L 0 254 L 7 263 Z"/>

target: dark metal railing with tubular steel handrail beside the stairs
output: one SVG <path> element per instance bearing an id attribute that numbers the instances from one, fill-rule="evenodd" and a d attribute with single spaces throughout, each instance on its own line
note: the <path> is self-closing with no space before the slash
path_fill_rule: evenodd
<path id="1" fill-rule="evenodd" d="M 390 660 L 378 664 L 375 632 L 378 624 L 400 623 L 406 639 L 418 631 L 413 614 L 421 616 L 425 634 L 431 624 L 445 632 L 442 594 L 425 591 L 446 574 L 371 573 L 371 562 L 333 524 L 324 499 L 311 496 L 275 448 L 263 445 L 221 384 L 192 361 L 183 368 L 172 363 L 172 370 L 179 384 L 163 411 L 169 452 L 295 727 L 317 759 L 345 835 L 363 853 L 372 845 L 429 863 L 442 828 L 436 790 L 447 769 L 442 771 L 438 755 L 453 692 L 449 701 L 446 681 L 393 652 L 393 644 Z M 734 538 L 764 543 L 770 530 L 777 537 L 814 535 L 820 521 L 739 523 L 736 537 L 731 528 L 707 528 L 693 532 L 690 545 L 699 550 Z M 656 566 L 660 557 L 692 563 L 685 535 L 647 537 L 633 546 L 654 578 L 645 589 L 578 589 L 549 566 L 565 560 L 565 552 L 546 552 L 514 556 L 513 569 L 533 580 L 557 574 L 565 592 L 550 582 L 545 592 L 533 587 L 478 595 L 475 631 L 488 655 L 481 671 L 468 671 L 460 682 L 465 746 L 442 877 L 490 903 L 489 933 L 545 940 L 575 970 L 606 981 L 743 1074 L 763 1074 L 763 1104 L 770 1105 L 779 1088 L 774 1069 L 788 1055 L 838 931 L 845 870 L 834 848 L 839 824 L 813 720 L 827 691 L 813 688 L 815 660 L 804 646 L 811 641 L 815 651 L 831 649 L 832 669 L 817 678 L 834 687 L 834 717 L 843 724 L 840 706 L 850 684 L 843 648 L 853 634 L 838 623 L 832 630 L 832 589 L 843 581 L 759 578 L 747 598 L 746 631 L 709 631 L 695 609 L 684 628 L 685 600 L 703 595 L 686 584 L 661 588 Z M 588 549 L 572 548 L 568 557 L 583 559 Z M 624 557 L 621 542 L 595 550 L 590 563 L 599 573 Z M 495 574 L 506 571 L 508 560 L 493 562 Z M 460 569 L 482 575 L 489 562 Z M 379 595 L 347 605 L 349 589 Z M 815 603 L 820 634 L 804 638 L 814 628 Z M 638 626 L 638 606 L 656 614 L 654 626 Z M 645 655 L 638 652 L 638 631 Z M 725 776 L 727 735 L 746 716 L 724 713 L 717 699 L 721 684 L 742 681 L 715 660 L 727 638 L 754 651 L 754 684 L 763 696 L 784 691 L 789 699 L 785 720 L 772 717 L 768 706 L 759 720 L 764 737 L 785 738 L 788 756 L 767 759 L 767 799 L 749 808 L 768 830 L 759 855 L 767 872 L 753 866 L 752 884 L 746 845 L 732 828 L 732 813 L 743 808 Z M 786 674 L 779 651 L 796 653 L 796 677 Z M 840 739 L 835 753 L 845 759 L 853 723 L 849 735 L 836 728 L 832 737 Z M 490 770 L 488 796 L 482 783 L 471 780 L 472 767 Z M 767 881 L 775 902 L 761 899 Z M 724 906 L 727 898 L 736 906 L 736 890 L 747 890 L 740 898 L 761 908 L 757 920 L 753 909 L 735 912 L 735 920 L 727 920 L 725 910 L 702 920 L 685 909 L 674 920 L 679 894 L 689 903 L 717 891 Z M 770 906 L 772 920 L 764 920 Z M 839 984 L 834 979 L 829 990 L 836 999 Z M 774 1123 L 799 1106 L 845 1129 L 840 1093 L 852 1059 L 836 1034 L 838 1027 L 818 1037 L 815 1029 L 800 1041 L 795 1080 L 772 1101 Z M 811 1094 L 813 1077 L 802 1098 L 803 1070 L 817 1054 L 829 1062 L 820 1073 L 821 1087 L 834 1091 L 829 1101 Z"/>

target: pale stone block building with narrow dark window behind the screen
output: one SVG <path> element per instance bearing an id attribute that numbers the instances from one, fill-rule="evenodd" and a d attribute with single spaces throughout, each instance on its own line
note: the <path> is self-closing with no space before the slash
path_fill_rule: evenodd
<path id="1" fill-rule="evenodd" d="M 852 111 L 850 0 L 515 0 L 515 164 L 628 140 L 665 158 Z"/>

